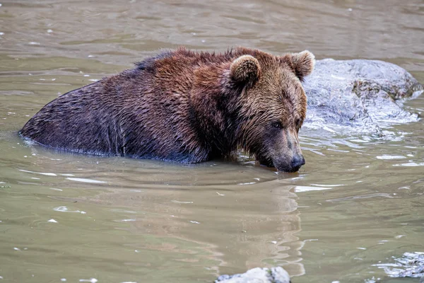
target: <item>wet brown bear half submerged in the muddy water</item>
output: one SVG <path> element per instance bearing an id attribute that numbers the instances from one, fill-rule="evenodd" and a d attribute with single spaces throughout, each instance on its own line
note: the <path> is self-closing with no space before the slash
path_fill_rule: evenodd
<path id="1" fill-rule="evenodd" d="M 182 163 L 241 148 L 263 165 L 294 172 L 305 164 L 301 82 L 313 67 L 308 51 L 179 48 L 59 96 L 20 134 L 66 151 Z"/>

